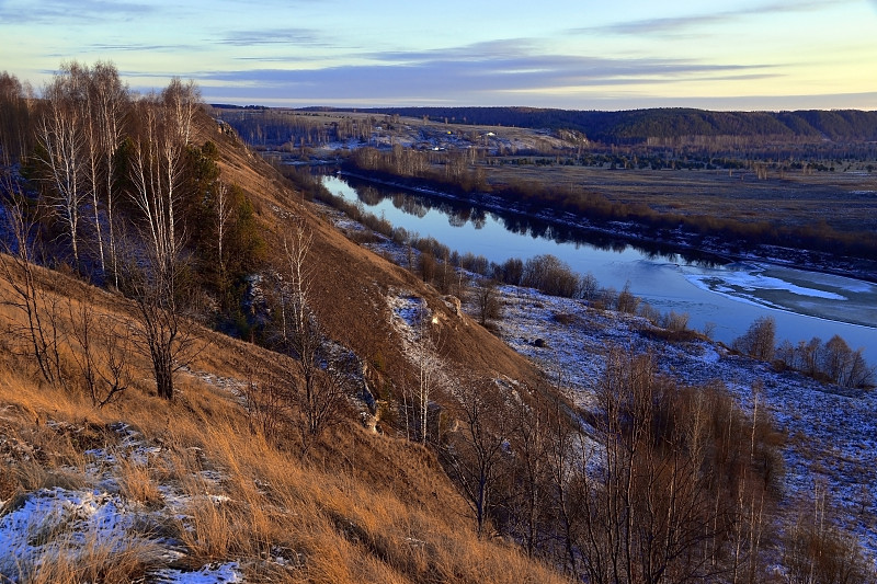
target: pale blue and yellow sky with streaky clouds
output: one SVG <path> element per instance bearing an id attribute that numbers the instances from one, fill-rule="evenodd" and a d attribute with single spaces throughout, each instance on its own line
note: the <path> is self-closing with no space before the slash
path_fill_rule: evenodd
<path id="1" fill-rule="evenodd" d="M 208 103 L 877 110 L 877 0 L 0 0 L 0 71 Z"/>

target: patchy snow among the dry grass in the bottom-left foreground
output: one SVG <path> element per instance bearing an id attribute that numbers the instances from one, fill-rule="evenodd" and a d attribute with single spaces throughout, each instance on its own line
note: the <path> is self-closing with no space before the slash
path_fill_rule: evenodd
<path id="1" fill-rule="evenodd" d="M 179 541 L 162 537 L 161 526 L 182 520 L 193 497 L 172 483 L 159 485 L 161 502 L 155 505 L 129 500 L 119 484 L 121 465 L 156 468 L 168 449 L 148 444 L 127 424 L 114 424 L 118 442 L 113 447 L 87 450 L 84 471 L 88 486 L 41 489 L 23 497 L 0 502 L 0 575 L 10 582 L 25 582 L 27 574 L 43 562 L 87 561 L 95 549 L 112 554 L 130 552 L 145 563 L 167 565 L 184 553 Z M 195 453 L 197 455 L 197 453 Z M 198 478 L 206 490 L 218 490 L 221 473 L 203 470 Z M 205 492 L 197 495 L 212 504 L 228 497 Z M 197 571 L 156 568 L 148 581 L 163 584 L 207 584 L 242 582 L 236 562 L 208 564 Z M 5 582 L 7 580 L 3 580 Z"/>

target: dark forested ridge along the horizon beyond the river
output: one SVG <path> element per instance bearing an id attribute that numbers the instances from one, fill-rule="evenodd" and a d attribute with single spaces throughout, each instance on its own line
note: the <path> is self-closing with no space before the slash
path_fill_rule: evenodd
<path id="1" fill-rule="evenodd" d="M 324 108 L 310 108 L 320 111 Z M 333 111 L 353 111 L 332 108 Z M 589 139 L 618 145 L 662 141 L 694 136 L 736 136 L 785 142 L 832 140 L 877 141 L 877 112 L 806 110 L 797 112 L 710 112 L 691 108 L 597 112 L 534 107 L 387 107 L 356 110 L 433 122 L 523 128 L 574 129 Z"/>

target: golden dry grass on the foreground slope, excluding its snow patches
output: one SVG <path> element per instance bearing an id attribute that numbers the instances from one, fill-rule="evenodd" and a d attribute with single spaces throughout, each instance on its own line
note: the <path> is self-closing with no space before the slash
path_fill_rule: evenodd
<path id="1" fill-rule="evenodd" d="M 91 306 L 101 313 L 125 318 L 124 302 L 110 295 L 60 278 L 55 285 L 77 301 L 94 299 Z M 18 318 L 0 309 L 0 322 Z M 198 374 L 243 381 L 248 366 L 275 370 L 276 355 L 202 334 L 210 343 L 193 374 L 179 377 L 181 394 L 170 403 L 155 397 L 140 356 L 134 363 L 138 383 L 119 401 L 95 409 L 75 389 L 42 382 L 25 356 L 2 352 L 2 454 L 14 472 L 3 499 L 50 485 L 94 488 L 94 461 L 84 453 L 103 448 L 115 462 L 99 465 L 96 472 L 114 473 L 119 495 L 145 514 L 168 504 L 160 486 L 185 502 L 183 513 L 163 525 L 144 519 L 182 543 L 178 568 L 237 561 L 253 582 L 561 581 L 505 543 L 478 540 L 465 504 L 420 446 L 351 423 L 334 428 L 303 462 L 253 433 L 236 397 Z M 14 344 L 8 336 L 3 342 Z M 143 444 L 160 447 L 160 455 L 130 456 L 117 423 L 137 432 Z M 27 455 L 35 451 L 39 456 Z M 53 537 L 64 546 L 66 534 Z M 107 546 L 95 542 L 86 557 L 69 554 L 52 568 L 22 566 L 22 573 L 32 582 L 125 582 L 160 563 L 148 541 L 115 558 Z"/>

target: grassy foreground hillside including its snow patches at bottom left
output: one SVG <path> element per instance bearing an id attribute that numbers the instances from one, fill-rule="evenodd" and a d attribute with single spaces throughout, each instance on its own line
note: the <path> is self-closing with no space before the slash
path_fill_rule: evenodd
<path id="1" fill-rule="evenodd" d="M 101 317 L 130 319 L 117 297 L 53 280 L 56 294 Z M 201 331 L 209 344 L 180 376 L 173 403 L 137 379 L 99 410 L 77 391 L 34 381 L 9 333 L 20 314 L 2 317 L 4 581 L 554 577 L 513 549 L 478 541 L 434 457 L 417 445 L 350 421 L 309 465 L 254 433 L 244 371 L 258 382 L 282 366 L 276 354 Z M 146 366 L 139 357 L 132 365 Z"/>

